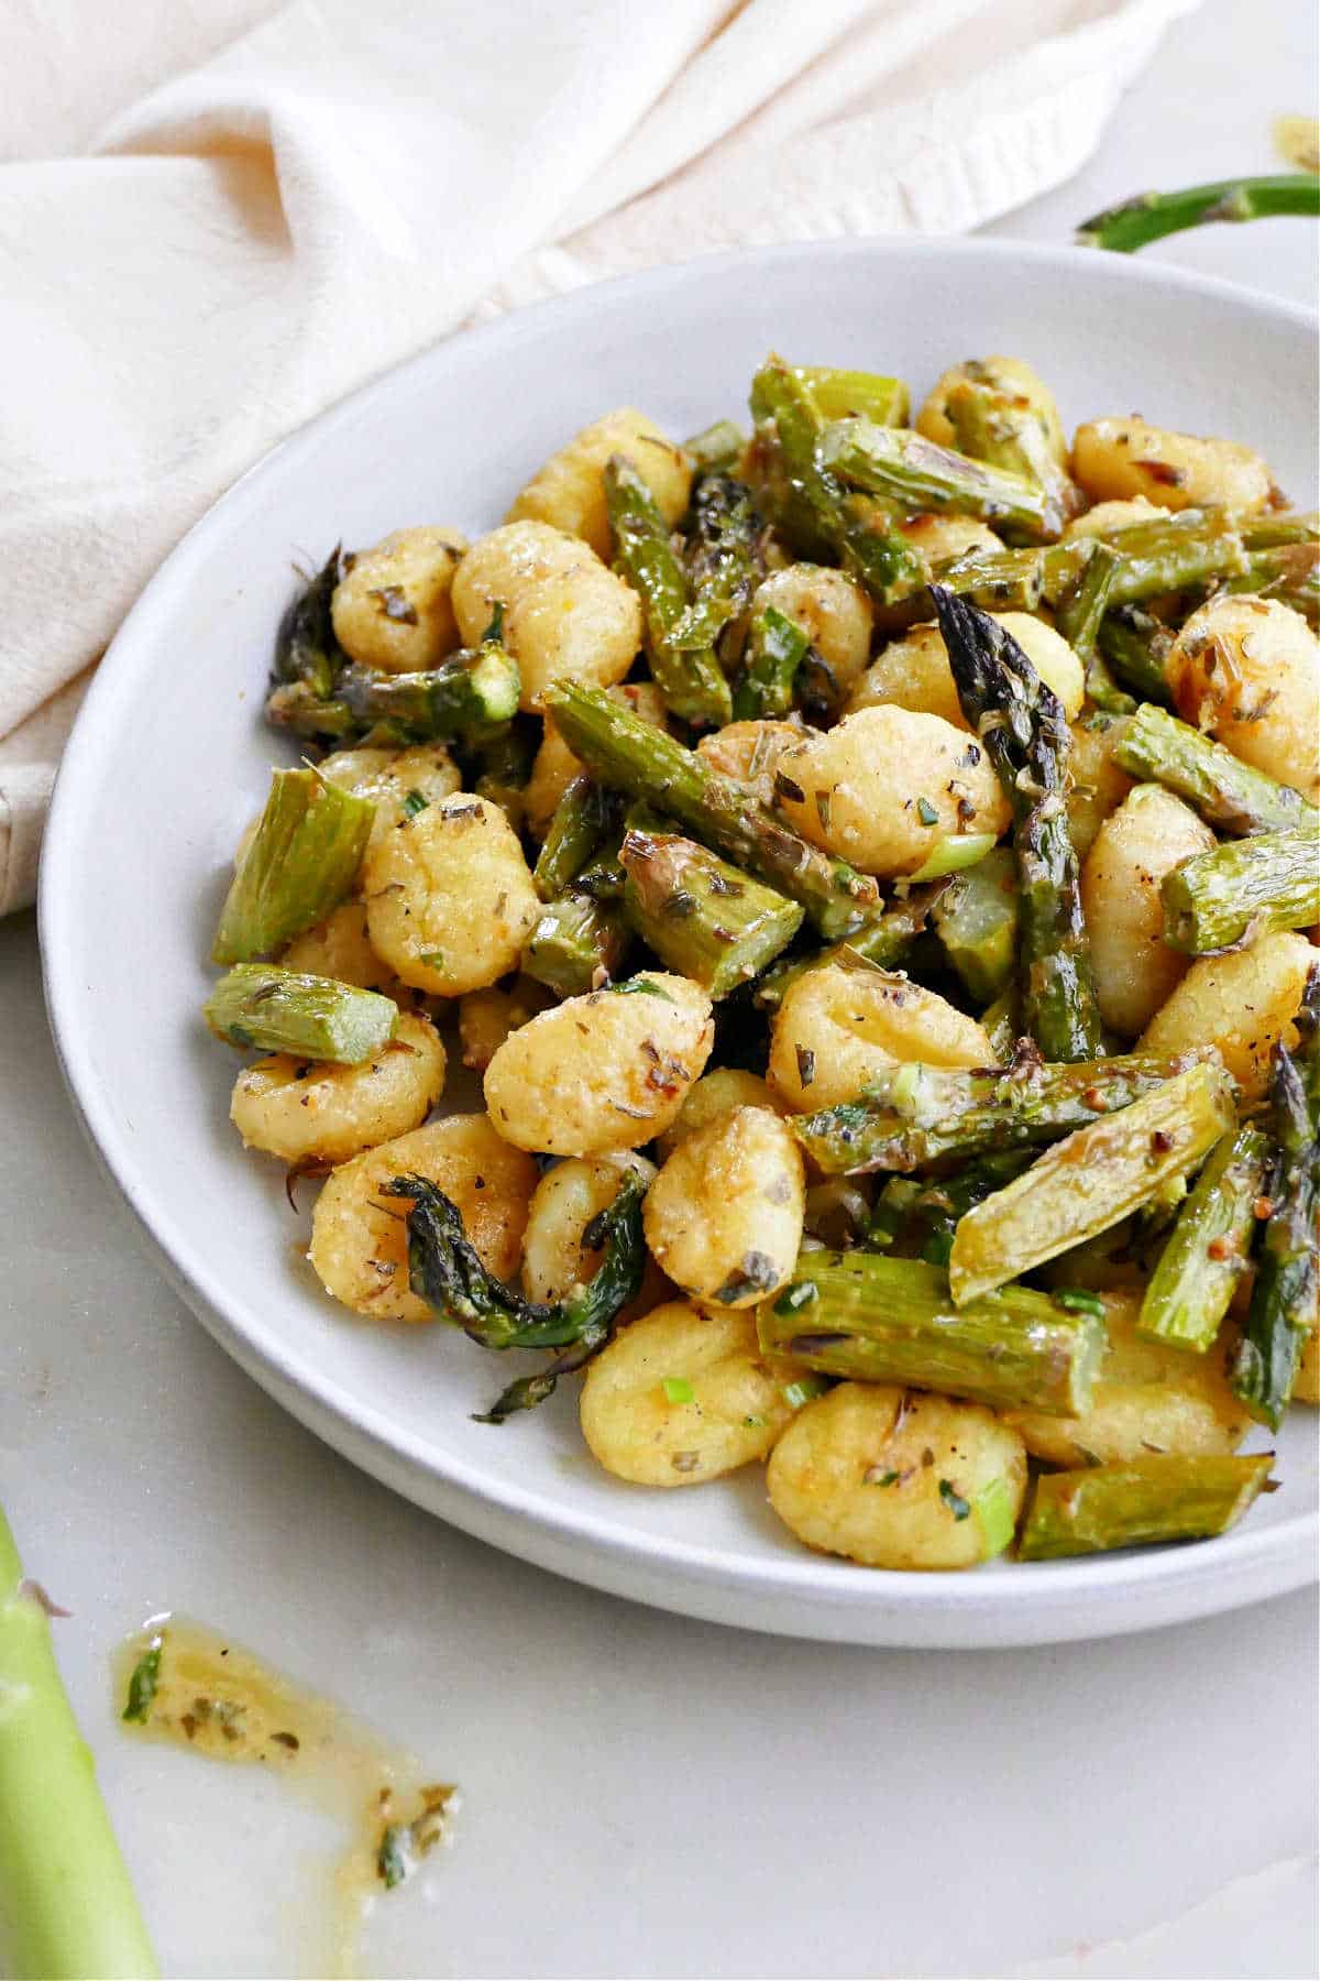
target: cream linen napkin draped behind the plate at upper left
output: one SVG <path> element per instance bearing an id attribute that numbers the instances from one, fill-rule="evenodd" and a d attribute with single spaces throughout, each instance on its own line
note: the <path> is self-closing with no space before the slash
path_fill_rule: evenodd
<path id="1" fill-rule="evenodd" d="M 283 434 L 602 275 L 974 228 L 1081 166 L 1195 4 L 125 0 L 93 36 L 85 0 L 0 10 L 0 913 L 79 676 Z"/>

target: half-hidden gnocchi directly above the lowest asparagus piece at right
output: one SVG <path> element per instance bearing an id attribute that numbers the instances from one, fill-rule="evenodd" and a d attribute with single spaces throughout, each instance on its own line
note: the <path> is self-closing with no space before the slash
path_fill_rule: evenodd
<path id="1" fill-rule="evenodd" d="M 1138 1292 L 1104 1294 L 1108 1347 L 1084 1416 L 1005 1410 L 1033 1458 L 1053 1466 L 1116 1464 L 1142 1452 L 1235 1452 L 1251 1430 L 1229 1389 L 1225 1341 L 1205 1355 L 1136 1333 Z"/>

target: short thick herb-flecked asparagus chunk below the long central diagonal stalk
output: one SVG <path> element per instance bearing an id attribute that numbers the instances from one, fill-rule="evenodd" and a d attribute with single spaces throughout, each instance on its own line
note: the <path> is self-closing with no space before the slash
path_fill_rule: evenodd
<path id="1" fill-rule="evenodd" d="M 629 830 L 619 864 L 631 927 L 712 998 L 758 977 L 801 927 L 798 901 L 673 832 Z"/>

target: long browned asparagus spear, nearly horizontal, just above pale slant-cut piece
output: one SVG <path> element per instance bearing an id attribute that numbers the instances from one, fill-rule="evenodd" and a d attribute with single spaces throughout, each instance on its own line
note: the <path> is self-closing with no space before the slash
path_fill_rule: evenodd
<path id="1" fill-rule="evenodd" d="M 950 1157 L 1059 1141 L 1154 1094 L 1185 1062 L 1124 1054 L 1049 1066 L 1027 1042 L 1005 1072 L 895 1066 L 857 1101 L 790 1123 L 827 1177 L 928 1169 Z"/>

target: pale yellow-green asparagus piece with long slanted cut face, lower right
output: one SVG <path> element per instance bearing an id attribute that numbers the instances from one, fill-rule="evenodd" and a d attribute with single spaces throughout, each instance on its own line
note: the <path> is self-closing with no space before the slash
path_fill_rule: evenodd
<path id="1" fill-rule="evenodd" d="M 958 1220 L 948 1260 L 954 1302 L 980 1300 L 1132 1216 L 1164 1183 L 1195 1169 L 1233 1119 L 1229 1076 L 1193 1066 L 1055 1143 Z"/>

